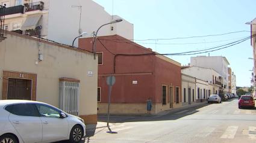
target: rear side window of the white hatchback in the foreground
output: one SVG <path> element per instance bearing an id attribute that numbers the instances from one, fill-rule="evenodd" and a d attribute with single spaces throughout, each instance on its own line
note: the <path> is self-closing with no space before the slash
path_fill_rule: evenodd
<path id="1" fill-rule="evenodd" d="M 36 111 L 34 104 L 8 105 L 7 107 L 5 107 L 5 110 L 14 115 L 39 117 L 39 114 Z"/>

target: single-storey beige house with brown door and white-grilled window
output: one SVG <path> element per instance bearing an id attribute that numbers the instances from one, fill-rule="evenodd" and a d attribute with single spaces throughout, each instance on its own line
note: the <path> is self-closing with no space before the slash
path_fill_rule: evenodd
<path id="1" fill-rule="evenodd" d="M 0 99 L 46 102 L 96 123 L 98 60 L 92 53 L 14 32 L 4 36 Z"/>

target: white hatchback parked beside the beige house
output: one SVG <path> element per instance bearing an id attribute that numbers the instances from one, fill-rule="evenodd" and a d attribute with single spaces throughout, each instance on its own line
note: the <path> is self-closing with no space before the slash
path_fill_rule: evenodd
<path id="1" fill-rule="evenodd" d="M 80 117 L 36 101 L 0 101 L 0 143 L 69 140 L 80 142 L 86 125 Z"/>

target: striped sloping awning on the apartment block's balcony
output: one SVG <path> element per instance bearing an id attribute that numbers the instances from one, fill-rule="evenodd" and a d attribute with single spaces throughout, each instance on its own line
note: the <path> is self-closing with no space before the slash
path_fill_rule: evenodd
<path id="1" fill-rule="evenodd" d="M 37 23 L 39 22 L 41 17 L 42 15 L 28 17 L 20 29 L 22 31 L 29 30 L 29 29 L 36 29 Z"/>

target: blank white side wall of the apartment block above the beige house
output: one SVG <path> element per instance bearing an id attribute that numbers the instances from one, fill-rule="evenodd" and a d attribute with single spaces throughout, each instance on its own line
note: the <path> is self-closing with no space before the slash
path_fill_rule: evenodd
<path id="1" fill-rule="evenodd" d="M 87 36 L 92 36 L 92 32 L 96 32 L 99 26 L 111 22 L 112 16 L 104 10 L 104 7 L 92 0 L 50 1 L 48 39 L 72 45 L 73 39 L 78 36 L 80 21 L 80 9 L 72 8 L 72 5 L 82 6 L 81 29 L 89 34 Z M 111 26 L 114 27 L 115 32 L 111 31 Z M 106 25 L 98 32 L 98 36 L 114 34 L 133 39 L 133 24 L 124 20 L 114 25 Z M 78 45 L 78 40 L 75 41 L 75 45 Z"/>

